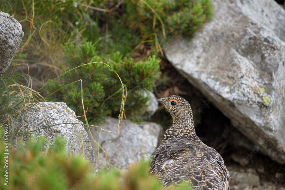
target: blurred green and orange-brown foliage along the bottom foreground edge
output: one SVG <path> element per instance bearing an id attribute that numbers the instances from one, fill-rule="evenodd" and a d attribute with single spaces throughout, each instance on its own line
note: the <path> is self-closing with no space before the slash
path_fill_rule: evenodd
<path id="1" fill-rule="evenodd" d="M 61 136 L 57 136 L 53 143 L 43 136 L 31 138 L 26 146 L 20 142 L 18 149 L 8 155 L 7 169 L 4 168 L 4 156 L 0 157 L 0 189 L 162 190 L 157 179 L 148 174 L 148 162 L 130 166 L 128 171 L 113 168 L 96 174 L 91 164 L 82 157 L 66 154 L 65 144 Z M 2 141 L 0 155 L 7 155 L 4 154 L 4 146 Z M 4 183 L 6 173 L 7 185 Z"/>

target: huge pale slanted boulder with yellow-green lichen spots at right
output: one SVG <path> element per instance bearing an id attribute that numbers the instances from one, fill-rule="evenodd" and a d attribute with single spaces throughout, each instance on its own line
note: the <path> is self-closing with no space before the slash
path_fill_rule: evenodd
<path id="1" fill-rule="evenodd" d="M 168 43 L 166 57 L 231 119 L 225 131 L 236 127 L 285 164 L 285 10 L 273 0 L 213 4 L 212 21 Z"/>

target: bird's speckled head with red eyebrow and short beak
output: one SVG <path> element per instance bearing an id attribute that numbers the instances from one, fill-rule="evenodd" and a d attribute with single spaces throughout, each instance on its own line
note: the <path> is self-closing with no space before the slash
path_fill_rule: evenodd
<path id="1" fill-rule="evenodd" d="M 182 97 L 171 95 L 157 100 L 164 104 L 173 118 L 173 122 L 192 121 L 193 114 L 190 104 Z"/>

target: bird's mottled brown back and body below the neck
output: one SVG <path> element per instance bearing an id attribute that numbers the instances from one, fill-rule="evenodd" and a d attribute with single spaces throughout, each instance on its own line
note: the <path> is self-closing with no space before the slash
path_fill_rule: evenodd
<path id="1" fill-rule="evenodd" d="M 190 181 L 193 189 L 228 189 L 229 172 L 222 157 L 198 137 L 166 138 L 151 158 L 151 173 L 156 173 L 165 187 Z"/>

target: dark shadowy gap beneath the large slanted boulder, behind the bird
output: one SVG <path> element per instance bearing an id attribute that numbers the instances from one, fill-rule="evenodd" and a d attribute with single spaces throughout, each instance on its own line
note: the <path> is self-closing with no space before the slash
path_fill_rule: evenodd
<path id="1" fill-rule="evenodd" d="M 170 62 L 162 60 L 160 65 L 162 75 L 166 73 L 168 80 L 164 84 L 157 84 L 154 90 L 156 97 L 174 94 L 186 99 L 193 110 L 197 135 L 205 144 L 215 148 L 221 154 L 227 167 L 239 172 L 246 172 L 247 169 L 253 168 L 260 177 L 261 185 L 264 182 L 271 182 L 276 187 L 284 186 L 285 165 L 274 162 L 269 156 L 257 150 L 257 146 L 233 128 L 230 120 L 211 102 L 208 103 L 207 97 L 203 97 L 187 79 L 175 70 Z M 163 105 L 159 105 L 158 111 L 150 120 L 161 124 L 164 131 L 172 125 L 172 118 Z M 159 142 L 162 138 L 163 136 Z"/>

